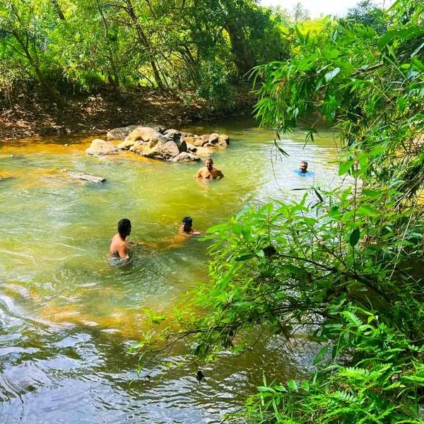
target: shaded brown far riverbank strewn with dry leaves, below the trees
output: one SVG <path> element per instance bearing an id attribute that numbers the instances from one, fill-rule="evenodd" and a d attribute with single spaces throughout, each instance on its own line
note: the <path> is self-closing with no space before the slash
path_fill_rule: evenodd
<path id="1" fill-rule="evenodd" d="M 252 113 L 254 95 L 240 88 L 232 106 L 211 107 L 196 98 L 143 89 L 117 101 L 112 93 L 64 98 L 61 105 L 40 95 L 19 95 L 0 104 L 0 141 L 74 133 L 104 134 L 116 126 L 158 122 L 168 128 Z"/>

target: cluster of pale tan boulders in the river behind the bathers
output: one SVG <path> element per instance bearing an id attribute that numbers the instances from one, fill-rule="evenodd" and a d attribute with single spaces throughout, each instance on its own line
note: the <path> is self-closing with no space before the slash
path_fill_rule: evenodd
<path id="1" fill-rule="evenodd" d="M 110 155 L 128 150 L 146 158 L 172 162 L 198 162 L 213 154 L 216 148 L 225 148 L 230 139 L 225 134 L 185 133 L 166 129 L 157 124 L 130 125 L 111 129 L 107 140 L 95 139 L 86 150 L 89 155 Z M 122 140 L 117 146 L 111 141 Z"/>

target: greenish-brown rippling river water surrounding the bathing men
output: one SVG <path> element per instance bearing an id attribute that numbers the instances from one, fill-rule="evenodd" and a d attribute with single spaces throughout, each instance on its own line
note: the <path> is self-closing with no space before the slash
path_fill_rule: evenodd
<path id="1" fill-rule="evenodd" d="M 95 137 L 86 135 L 0 141 L 0 177 L 11 177 L 0 180 L 0 424 L 220 423 L 263 375 L 285 382 L 310 369 L 314 346 L 272 338 L 246 357 L 205 365 L 201 384 L 194 366 L 137 377 L 128 348 L 149 328 L 144 309 L 171 312 L 207 281 L 207 244 L 140 247 L 128 266 L 110 266 L 117 220 L 131 219 L 130 240 L 155 243 L 175 235 L 183 216 L 204 231 L 245 206 L 294 199 L 295 188 L 339 184 L 332 132 L 305 146 L 306 131 L 296 131 L 281 143 L 284 158 L 272 132 L 250 119 L 184 130 L 230 136 L 214 155 L 224 179 L 197 182 L 199 165 L 130 152 L 93 158 L 84 151 Z M 293 172 L 302 159 L 314 177 Z M 76 182 L 63 169 L 107 181 Z"/>

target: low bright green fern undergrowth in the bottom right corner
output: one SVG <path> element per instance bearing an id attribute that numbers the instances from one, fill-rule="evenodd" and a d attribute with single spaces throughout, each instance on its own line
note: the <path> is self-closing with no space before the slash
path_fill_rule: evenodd
<path id="1" fill-rule="evenodd" d="M 337 325 L 320 329 L 336 343 L 330 365 L 310 381 L 259 387 L 247 404 L 249 422 L 422 423 L 423 346 L 372 312 L 344 307 L 331 314 Z M 341 354 L 354 365 L 338 365 Z"/>

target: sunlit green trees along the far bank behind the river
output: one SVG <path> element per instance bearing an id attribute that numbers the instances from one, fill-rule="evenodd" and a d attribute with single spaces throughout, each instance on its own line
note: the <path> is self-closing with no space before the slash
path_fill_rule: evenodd
<path id="1" fill-rule="evenodd" d="M 227 105 L 252 66 L 285 57 L 278 25 L 253 0 L 7 0 L 0 57 L 18 72 L 0 78 L 55 98 L 148 85 Z"/>

